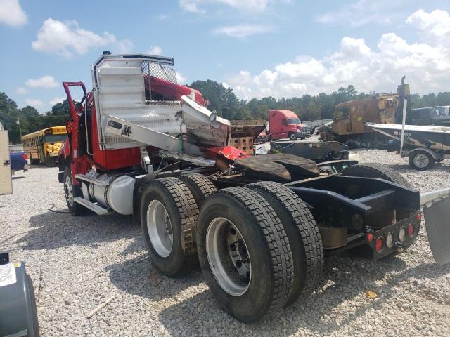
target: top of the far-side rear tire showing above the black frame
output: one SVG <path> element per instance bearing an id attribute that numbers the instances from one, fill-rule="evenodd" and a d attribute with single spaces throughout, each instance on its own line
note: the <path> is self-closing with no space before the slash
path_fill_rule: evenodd
<path id="1" fill-rule="evenodd" d="M 342 176 L 381 178 L 392 183 L 411 187 L 399 173 L 382 164 L 366 163 L 352 165 L 342 170 Z"/>

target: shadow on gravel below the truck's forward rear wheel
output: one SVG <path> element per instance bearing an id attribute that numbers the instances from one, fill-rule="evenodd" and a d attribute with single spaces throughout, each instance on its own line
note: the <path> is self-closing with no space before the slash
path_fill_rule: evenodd
<path id="1" fill-rule="evenodd" d="M 176 296 L 181 291 L 203 282 L 199 267 L 188 275 L 165 277 L 153 268 L 147 254 L 123 263 L 109 265 L 106 270 L 109 272 L 111 282 L 118 289 L 151 300 L 163 300 Z"/>

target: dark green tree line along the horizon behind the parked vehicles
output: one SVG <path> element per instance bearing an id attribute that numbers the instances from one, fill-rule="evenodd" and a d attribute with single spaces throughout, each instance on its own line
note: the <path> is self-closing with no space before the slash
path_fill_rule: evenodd
<path id="1" fill-rule="evenodd" d="M 208 109 L 216 110 L 219 116 L 226 119 L 269 119 L 269 110 L 285 109 L 295 112 L 302 121 L 311 119 L 333 118 L 335 105 L 347 100 L 368 98 L 377 93 L 358 93 L 354 86 L 339 88 L 333 93 L 319 93 L 319 95 L 303 95 L 300 98 L 264 97 L 261 99 L 239 100 L 232 88 L 226 88 L 222 84 L 208 79 L 207 81 L 195 81 L 188 85 L 198 89 L 209 102 Z M 450 105 L 450 92 L 429 93 L 420 96 L 411 95 L 411 107 L 433 107 L 438 105 Z M 9 131 L 11 143 L 21 143 L 22 135 L 47 128 L 49 126 L 65 125 L 68 119 L 68 100 L 53 105 L 51 111 L 46 114 L 39 112 L 32 106 L 18 108 L 17 104 L 8 98 L 6 93 L 0 92 L 0 123 Z"/>

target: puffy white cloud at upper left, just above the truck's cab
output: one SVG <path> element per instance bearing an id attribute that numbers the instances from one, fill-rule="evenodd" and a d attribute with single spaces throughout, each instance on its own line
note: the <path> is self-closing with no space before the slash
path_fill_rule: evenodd
<path id="1" fill-rule="evenodd" d="M 37 33 L 37 40 L 32 41 L 35 51 L 57 53 L 66 57 L 85 54 L 91 48 L 109 46 L 118 53 L 127 53 L 133 48 L 129 39 L 119 40 L 109 32 L 96 34 L 79 27 L 77 21 L 61 22 L 48 18 Z"/>

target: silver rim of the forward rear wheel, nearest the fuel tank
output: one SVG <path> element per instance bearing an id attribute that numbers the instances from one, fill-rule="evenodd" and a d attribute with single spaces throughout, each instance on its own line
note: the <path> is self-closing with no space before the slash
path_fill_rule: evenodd
<path id="1" fill-rule="evenodd" d="M 167 258 L 174 244 L 172 223 L 165 206 L 158 200 L 152 200 L 148 204 L 147 231 L 156 253 L 162 258 Z"/>

